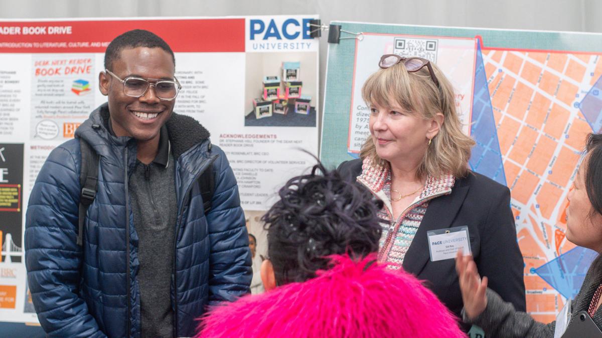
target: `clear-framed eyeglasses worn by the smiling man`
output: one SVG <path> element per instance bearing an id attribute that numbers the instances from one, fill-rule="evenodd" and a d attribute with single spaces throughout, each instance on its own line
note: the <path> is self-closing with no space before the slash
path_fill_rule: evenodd
<path id="1" fill-rule="evenodd" d="M 179 91 L 182 89 L 182 85 L 178 79 L 175 81 L 162 80 L 162 79 L 144 79 L 136 76 L 128 76 L 125 79 L 119 78 L 108 69 L 105 69 L 105 73 L 109 73 L 118 79 L 123 84 L 123 93 L 131 97 L 143 96 L 149 87 L 155 87 L 155 95 L 161 100 L 171 101 L 178 96 Z M 150 81 L 149 81 L 150 80 Z M 151 82 L 153 81 L 153 82 Z"/>

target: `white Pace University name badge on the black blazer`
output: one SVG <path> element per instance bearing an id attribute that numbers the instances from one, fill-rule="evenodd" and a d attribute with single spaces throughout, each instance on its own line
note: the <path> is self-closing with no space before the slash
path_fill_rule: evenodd
<path id="1" fill-rule="evenodd" d="M 468 227 L 433 230 L 426 233 L 429 238 L 430 261 L 454 259 L 458 250 L 471 254 Z"/>

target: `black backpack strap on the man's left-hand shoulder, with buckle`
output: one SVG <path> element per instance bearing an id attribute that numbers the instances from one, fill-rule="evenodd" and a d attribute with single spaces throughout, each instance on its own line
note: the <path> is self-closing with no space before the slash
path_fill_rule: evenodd
<path id="1" fill-rule="evenodd" d="M 81 193 L 79 194 L 79 217 L 77 244 L 83 244 L 84 221 L 88 211 L 88 206 L 92 204 L 96 197 L 96 186 L 98 183 L 98 153 L 90 144 L 79 138 L 79 147 L 81 149 L 81 170 L 79 171 L 79 185 Z"/>

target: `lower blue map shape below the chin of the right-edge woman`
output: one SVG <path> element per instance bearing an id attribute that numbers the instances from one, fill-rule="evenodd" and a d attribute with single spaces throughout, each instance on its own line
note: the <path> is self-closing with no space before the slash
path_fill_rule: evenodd
<path id="1" fill-rule="evenodd" d="M 550 262 L 534 269 L 539 277 L 556 289 L 563 297 L 575 299 L 589 266 L 598 253 L 588 248 L 576 247 Z"/>

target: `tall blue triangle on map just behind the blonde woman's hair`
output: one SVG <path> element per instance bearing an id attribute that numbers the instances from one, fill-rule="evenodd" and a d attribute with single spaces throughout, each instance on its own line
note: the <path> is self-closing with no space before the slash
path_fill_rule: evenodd
<path id="1" fill-rule="evenodd" d="M 483 174 L 495 182 L 506 185 L 506 174 L 501 159 L 500 142 L 497 138 L 495 118 L 489 96 L 489 86 L 479 44 L 477 64 L 474 72 L 473 117 L 471 136 L 476 141 L 468 164 L 476 173 Z"/>

